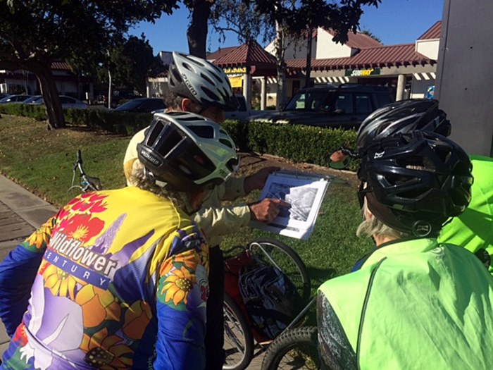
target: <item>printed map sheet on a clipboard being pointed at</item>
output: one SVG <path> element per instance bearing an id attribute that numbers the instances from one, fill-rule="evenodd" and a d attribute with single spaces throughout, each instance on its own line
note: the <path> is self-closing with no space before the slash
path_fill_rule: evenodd
<path id="1" fill-rule="evenodd" d="M 260 200 L 282 199 L 291 206 L 282 207 L 279 216 L 272 223 L 250 221 L 249 226 L 291 238 L 308 239 L 329 184 L 328 176 L 293 171 L 271 173 L 263 187 Z"/>

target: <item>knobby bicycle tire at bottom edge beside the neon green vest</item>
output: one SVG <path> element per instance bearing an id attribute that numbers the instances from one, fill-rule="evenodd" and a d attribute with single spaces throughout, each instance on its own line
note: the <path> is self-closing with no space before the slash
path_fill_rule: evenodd
<path id="1" fill-rule="evenodd" d="M 267 348 L 262 370 L 320 369 L 316 326 L 285 331 Z"/>

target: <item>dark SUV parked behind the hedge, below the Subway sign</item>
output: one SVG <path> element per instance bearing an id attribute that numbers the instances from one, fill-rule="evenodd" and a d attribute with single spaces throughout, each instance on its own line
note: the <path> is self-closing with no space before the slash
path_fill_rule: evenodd
<path id="1" fill-rule="evenodd" d="M 373 111 L 393 101 L 389 87 L 320 85 L 299 90 L 282 111 L 264 112 L 249 121 L 330 128 L 358 128 Z"/>

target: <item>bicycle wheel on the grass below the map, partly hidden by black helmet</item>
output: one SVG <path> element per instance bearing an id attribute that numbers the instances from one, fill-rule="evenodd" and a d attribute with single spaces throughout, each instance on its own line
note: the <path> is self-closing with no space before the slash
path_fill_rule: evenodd
<path id="1" fill-rule="evenodd" d="M 311 292 L 310 278 L 297 252 L 278 240 L 268 238 L 256 239 L 248 247 L 264 264 L 273 265 L 286 274 L 303 298 L 301 306 L 308 301 Z"/>

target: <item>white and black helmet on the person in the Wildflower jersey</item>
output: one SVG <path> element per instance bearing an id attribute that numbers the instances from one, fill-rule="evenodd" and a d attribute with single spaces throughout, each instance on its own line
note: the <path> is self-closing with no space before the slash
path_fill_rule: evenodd
<path id="1" fill-rule="evenodd" d="M 148 173 L 178 191 L 219 185 L 239 163 L 235 143 L 215 122 L 194 113 L 156 113 L 137 156 Z"/>

